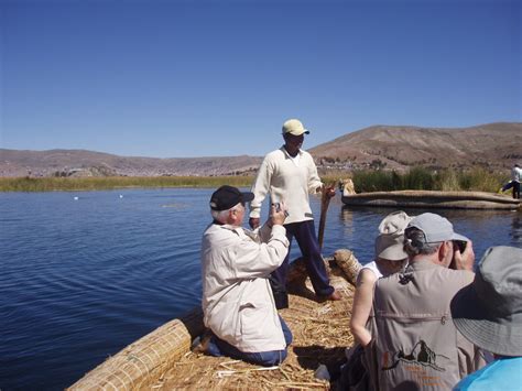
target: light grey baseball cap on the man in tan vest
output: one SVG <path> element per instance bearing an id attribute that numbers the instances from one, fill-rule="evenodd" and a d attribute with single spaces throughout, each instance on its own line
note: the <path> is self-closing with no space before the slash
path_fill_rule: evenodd
<path id="1" fill-rule="evenodd" d="M 426 243 L 437 243 L 448 240 L 464 240 L 469 241 L 464 235 L 456 233 L 453 230 L 453 224 L 445 217 L 436 214 L 422 214 L 414 217 L 406 227 L 417 228 L 424 233 Z"/>

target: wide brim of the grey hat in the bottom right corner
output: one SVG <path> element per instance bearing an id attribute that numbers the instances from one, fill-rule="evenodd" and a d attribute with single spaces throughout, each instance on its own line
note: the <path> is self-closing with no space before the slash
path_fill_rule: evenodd
<path id="1" fill-rule="evenodd" d="M 502 356 L 522 355 L 520 317 L 518 319 L 491 317 L 472 284 L 457 292 L 452 300 L 450 309 L 457 329 L 476 346 Z"/>

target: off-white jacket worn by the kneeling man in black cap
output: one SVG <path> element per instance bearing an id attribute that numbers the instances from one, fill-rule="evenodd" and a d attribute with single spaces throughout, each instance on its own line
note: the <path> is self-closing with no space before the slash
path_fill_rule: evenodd
<path id="1" fill-rule="evenodd" d="M 268 276 L 287 251 L 283 226 L 252 232 L 211 224 L 202 241 L 205 326 L 244 352 L 283 350 L 286 343 Z"/>

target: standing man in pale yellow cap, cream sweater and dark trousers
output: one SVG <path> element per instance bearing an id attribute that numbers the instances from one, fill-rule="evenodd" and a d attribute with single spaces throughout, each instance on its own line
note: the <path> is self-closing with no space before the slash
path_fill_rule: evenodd
<path id="1" fill-rule="evenodd" d="M 328 300 L 340 300 L 339 293 L 329 284 L 308 199 L 308 193 L 317 192 L 324 192 L 327 197 L 333 197 L 335 188 L 324 186 L 314 159 L 301 149 L 304 134 L 308 133 L 297 119 L 290 119 L 283 123 L 284 145 L 267 154 L 252 186 L 254 198 L 250 203 L 249 224 L 252 228 L 259 227 L 261 204 L 268 194 L 272 204 L 284 203 L 289 210 L 284 225 L 286 237 L 291 243 L 293 237 L 297 240 L 315 293 Z M 289 258 L 290 250 L 283 264 L 271 276 L 278 308 L 289 306 L 286 293 Z"/>

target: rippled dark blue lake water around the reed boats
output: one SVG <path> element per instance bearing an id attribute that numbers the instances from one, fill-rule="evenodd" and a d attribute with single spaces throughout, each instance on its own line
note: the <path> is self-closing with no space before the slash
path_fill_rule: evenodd
<path id="1" fill-rule="evenodd" d="M 211 192 L 0 194 L 0 389 L 63 389 L 198 305 Z M 318 199 L 312 205 L 318 225 Z M 350 248 L 370 261 L 390 211 L 348 209 L 337 195 L 324 254 Z M 437 213 L 474 240 L 478 259 L 489 246 L 522 245 L 520 213 Z"/>

